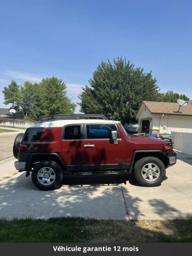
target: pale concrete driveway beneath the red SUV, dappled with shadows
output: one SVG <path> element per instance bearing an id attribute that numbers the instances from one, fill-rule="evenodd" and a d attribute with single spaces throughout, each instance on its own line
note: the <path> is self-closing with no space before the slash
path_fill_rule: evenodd
<path id="1" fill-rule="evenodd" d="M 131 181 L 125 185 L 118 177 L 103 177 L 67 179 L 58 190 L 40 191 L 30 176 L 15 174 L 13 163 L 13 158 L 0 161 L 0 218 L 141 220 L 192 216 L 192 158 L 187 155 L 179 154 L 177 164 L 167 169 L 167 179 L 154 188 L 140 187 Z M 6 178 L 6 172 L 10 178 Z"/>

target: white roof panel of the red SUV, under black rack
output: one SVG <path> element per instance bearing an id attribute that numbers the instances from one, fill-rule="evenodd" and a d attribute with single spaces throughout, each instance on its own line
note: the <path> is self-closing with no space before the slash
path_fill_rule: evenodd
<path id="1" fill-rule="evenodd" d="M 30 127 L 62 127 L 68 124 L 114 124 L 121 123 L 119 121 L 105 120 L 105 119 L 70 119 L 70 120 L 54 120 L 39 124 L 31 125 Z"/>

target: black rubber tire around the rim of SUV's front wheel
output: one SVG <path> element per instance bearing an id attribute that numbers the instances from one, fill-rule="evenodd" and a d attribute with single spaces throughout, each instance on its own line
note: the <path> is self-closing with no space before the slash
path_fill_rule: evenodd
<path id="1" fill-rule="evenodd" d="M 145 175 L 145 171 L 142 171 L 143 167 L 145 166 L 148 167 L 148 164 L 150 163 L 152 164 L 152 167 L 155 165 L 158 167 L 158 170 L 157 170 L 157 172 L 159 172 L 158 178 L 156 177 L 156 175 L 152 174 L 154 179 L 157 178 L 154 181 L 148 180 L 150 174 L 147 175 L 146 177 L 147 180 L 142 176 L 142 173 L 143 175 Z M 146 170 L 146 169 L 143 169 L 143 170 Z M 162 181 L 164 180 L 165 174 L 166 174 L 165 165 L 157 157 L 152 157 L 152 156 L 143 157 L 139 159 L 134 165 L 134 177 L 139 182 L 140 185 L 145 187 L 156 187 L 161 185 Z"/>

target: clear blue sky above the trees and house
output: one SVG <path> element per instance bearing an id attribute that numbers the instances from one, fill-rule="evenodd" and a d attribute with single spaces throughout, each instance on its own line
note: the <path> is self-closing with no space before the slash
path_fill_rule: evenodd
<path id="1" fill-rule="evenodd" d="M 192 98 L 191 12 L 185 0 L 1 0 L 0 91 L 58 76 L 76 102 L 97 65 L 122 56 Z"/>

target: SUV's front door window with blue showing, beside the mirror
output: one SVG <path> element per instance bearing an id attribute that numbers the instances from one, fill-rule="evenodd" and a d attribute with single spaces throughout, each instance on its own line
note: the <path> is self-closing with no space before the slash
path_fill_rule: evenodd
<path id="1" fill-rule="evenodd" d="M 115 124 L 87 124 L 87 139 L 110 139 L 111 131 L 117 131 Z"/>

